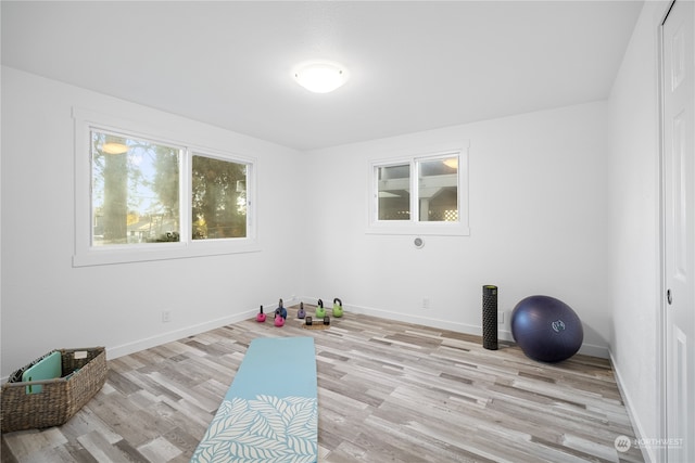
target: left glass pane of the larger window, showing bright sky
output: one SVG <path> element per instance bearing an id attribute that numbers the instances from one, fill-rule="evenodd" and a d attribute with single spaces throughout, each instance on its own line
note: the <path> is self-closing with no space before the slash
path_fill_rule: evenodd
<path id="1" fill-rule="evenodd" d="M 180 150 L 91 131 L 92 246 L 179 241 Z"/>

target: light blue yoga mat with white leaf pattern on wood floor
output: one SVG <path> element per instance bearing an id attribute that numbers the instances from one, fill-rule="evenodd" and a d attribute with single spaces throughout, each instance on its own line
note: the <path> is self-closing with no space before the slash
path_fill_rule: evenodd
<path id="1" fill-rule="evenodd" d="M 191 463 L 317 460 L 314 338 L 253 339 Z"/>

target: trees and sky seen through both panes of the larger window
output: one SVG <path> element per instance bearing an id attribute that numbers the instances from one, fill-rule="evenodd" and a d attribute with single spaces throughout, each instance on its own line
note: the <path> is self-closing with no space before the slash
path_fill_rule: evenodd
<path id="1" fill-rule="evenodd" d="M 186 156 L 190 168 L 188 181 L 181 183 Z M 91 245 L 247 237 L 249 168 L 241 162 L 92 130 Z M 191 191 L 185 207 L 179 204 L 182 184 L 190 184 Z M 190 221 L 181 217 L 187 208 Z M 190 230 L 185 240 L 182 222 Z"/>

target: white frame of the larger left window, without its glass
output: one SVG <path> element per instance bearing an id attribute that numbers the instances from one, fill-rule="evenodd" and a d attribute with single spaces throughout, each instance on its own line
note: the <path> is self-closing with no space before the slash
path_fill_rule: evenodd
<path id="1" fill-rule="evenodd" d="M 173 133 L 118 117 L 73 108 L 75 121 L 75 253 L 73 267 L 111 263 L 142 262 L 179 259 L 223 254 L 261 250 L 256 231 L 256 168 L 254 157 L 238 155 L 227 150 L 199 146 L 178 140 Z M 92 246 L 91 207 L 91 131 L 102 130 L 122 133 L 128 138 L 143 139 L 181 150 L 179 164 L 179 221 L 180 239 L 168 243 L 140 243 L 137 245 Z M 191 207 L 191 159 L 193 155 L 245 164 L 247 168 L 247 236 L 215 240 L 193 240 Z"/>

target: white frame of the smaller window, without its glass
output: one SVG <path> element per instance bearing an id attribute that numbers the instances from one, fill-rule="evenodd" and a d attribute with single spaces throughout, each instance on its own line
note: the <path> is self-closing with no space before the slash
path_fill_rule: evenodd
<path id="1" fill-rule="evenodd" d="M 375 158 L 369 162 L 369 193 L 367 233 L 405 235 L 470 235 L 468 222 L 468 150 L 469 142 L 421 149 L 400 156 Z M 445 157 L 458 157 L 458 220 L 420 221 L 419 220 L 419 172 L 418 163 Z M 379 220 L 379 178 L 380 167 L 410 166 L 410 218 L 408 220 Z"/>

